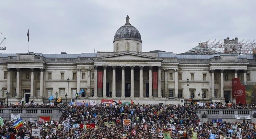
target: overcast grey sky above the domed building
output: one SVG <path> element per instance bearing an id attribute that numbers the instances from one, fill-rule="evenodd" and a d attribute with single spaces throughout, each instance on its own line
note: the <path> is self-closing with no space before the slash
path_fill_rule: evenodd
<path id="1" fill-rule="evenodd" d="M 29 27 L 30 52 L 113 51 L 115 32 L 129 15 L 142 51 L 183 53 L 209 39 L 256 39 L 255 6 L 255 0 L 5 0 L 0 32 L 7 48 L 0 52 L 28 52 Z"/>

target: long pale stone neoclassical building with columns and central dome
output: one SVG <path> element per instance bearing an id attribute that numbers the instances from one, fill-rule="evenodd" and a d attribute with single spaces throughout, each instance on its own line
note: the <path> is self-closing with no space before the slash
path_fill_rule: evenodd
<path id="1" fill-rule="evenodd" d="M 85 102 L 184 104 L 188 98 L 200 97 L 201 102 L 202 94 L 205 101 L 225 102 L 234 101 L 232 78 L 243 84 L 256 82 L 252 54 L 175 54 L 142 48 L 141 35 L 127 16 L 114 36 L 112 52 L 0 54 L 0 102 L 7 102 L 7 91 L 9 103 L 22 98 L 49 103 L 55 92 L 65 101 L 65 94 L 74 99 L 81 90 L 80 100 Z"/>

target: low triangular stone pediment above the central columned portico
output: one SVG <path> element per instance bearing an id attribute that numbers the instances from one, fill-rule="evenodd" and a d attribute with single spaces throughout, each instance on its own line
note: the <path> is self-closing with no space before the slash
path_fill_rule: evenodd
<path id="1" fill-rule="evenodd" d="M 122 54 L 115 54 L 115 55 L 108 55 L 103 57 L 98 57 L 98 60 L 161 60 L 157 57 L 151 57 L 141 54 L 134 54 L 134 53 L 122 53 Z"/>

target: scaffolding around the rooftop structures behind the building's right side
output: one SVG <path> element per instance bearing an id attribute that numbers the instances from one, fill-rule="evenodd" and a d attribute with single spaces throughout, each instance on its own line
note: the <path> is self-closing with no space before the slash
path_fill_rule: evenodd
<path id="1" fill-rule="evenodd" d="M 232 54 L 256 54 L 256 43 L 254 40 L 250 41 L 244 40 L 238 41 L 238 38 L 229 40 L 224 39 L 221 42 L 221 39 L 218 42 L 210 42 L 210 39 L 206 42 L 200 42 L 198 44 L 197 50 L 194 53 L 202 53 L 202 54 L 214 54 L 214 53 L 232 53 Z M 250 42 L 249 42 L 250 41 Z"/>

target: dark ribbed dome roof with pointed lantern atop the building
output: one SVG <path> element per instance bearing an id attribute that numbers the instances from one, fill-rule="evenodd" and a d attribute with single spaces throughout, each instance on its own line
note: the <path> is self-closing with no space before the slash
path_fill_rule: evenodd
<path id="1" fill-rule="evenodd" d="M 113 42 L 118 40 L 137 40 L 142 42 L 140 32 L 136 27 L 130 24 L 129 19 L 129 16 L 127 15 L 126 23 L 116 31 Z"/>

